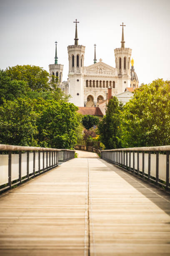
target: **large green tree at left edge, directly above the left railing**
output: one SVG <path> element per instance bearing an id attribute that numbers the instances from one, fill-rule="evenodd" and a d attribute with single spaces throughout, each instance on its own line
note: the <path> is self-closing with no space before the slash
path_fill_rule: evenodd
<path id="1" fill-rule="evenodd" d="M 0 106 L 0 143 L 37 146 L 37 118 L 30 99 L 4 100 Z"/>

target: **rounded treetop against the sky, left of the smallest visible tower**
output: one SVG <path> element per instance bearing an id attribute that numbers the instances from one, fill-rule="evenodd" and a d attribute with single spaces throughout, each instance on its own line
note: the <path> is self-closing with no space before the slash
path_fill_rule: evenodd
<path id="1" fill-rule="evenodd" d="M 11 80 L 22 80 L 27 82 L 32 91 L 50 90 L 49 73 L 41 67 L 31 65 L 17 65 L 6 69 Z M 53 83 L 54 84 L 54 83 Z"/>

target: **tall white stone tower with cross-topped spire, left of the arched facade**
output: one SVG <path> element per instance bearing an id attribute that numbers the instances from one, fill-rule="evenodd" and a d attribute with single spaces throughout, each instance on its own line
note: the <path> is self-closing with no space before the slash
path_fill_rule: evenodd
<path id="1" fill-rule="evenodd" d="M 68 61 L 69 61 L 69 94 L 71 95 L 70 102 L 78 107 L 84 107 L 84 56 L 85 46 L 78 44 L 77 37 L 77 19 L 75 23 L 75 43 L 69 45 L 68 50 Z"/>

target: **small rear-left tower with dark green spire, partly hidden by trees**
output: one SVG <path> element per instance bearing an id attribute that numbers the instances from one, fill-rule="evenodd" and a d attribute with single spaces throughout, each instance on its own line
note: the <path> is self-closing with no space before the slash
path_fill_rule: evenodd
<path id="1" fill-rule="evenodd" d="M 63 73 L 64 65 L 58 64 L 58 57 L 57 57 L 57 41 L 55 41 L 55 64 L 49 65 L 50 77 L 56 76 L 58 77 L 58 81 L 62 84 L 62 73 Z"/>

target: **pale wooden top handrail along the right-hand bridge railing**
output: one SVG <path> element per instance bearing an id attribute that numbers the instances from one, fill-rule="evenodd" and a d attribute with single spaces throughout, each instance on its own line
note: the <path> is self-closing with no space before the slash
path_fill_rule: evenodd
<path id="1" fill-rule="evenodd" d="M 170 151 L 170 146 L 154 146 L 154 147 L 140 147 L 140 148 L 115 148 L 101 151 Z"/>

